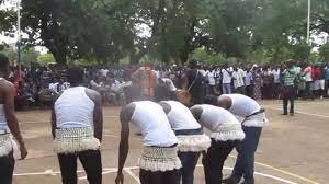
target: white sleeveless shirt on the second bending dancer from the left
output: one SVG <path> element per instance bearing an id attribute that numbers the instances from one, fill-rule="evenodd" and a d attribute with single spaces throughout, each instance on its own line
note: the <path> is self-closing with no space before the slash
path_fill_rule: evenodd
<path id="1" fill-rule="evenodd" d="M 196 122 L 191 111 L 180 102 L 162 101 L 170 105 L 171 110 L 167 114 L 173 130 L 198 129 L 201 125 Z"/>

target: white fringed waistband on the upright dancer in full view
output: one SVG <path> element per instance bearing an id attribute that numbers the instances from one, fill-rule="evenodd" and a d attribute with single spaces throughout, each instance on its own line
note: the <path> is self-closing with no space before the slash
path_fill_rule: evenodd
<path id="1" fill-rule="evenodd" d="M 99 150 L 101 143 L 93 136 L 91 127 L 56 129 L 54 140 L 55 153 L 75 153 L 87 150 Z"/>

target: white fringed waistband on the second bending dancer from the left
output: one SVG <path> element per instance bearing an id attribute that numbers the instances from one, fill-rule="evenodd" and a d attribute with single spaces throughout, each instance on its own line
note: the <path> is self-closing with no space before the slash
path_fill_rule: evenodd
<path id="1" fill-rule="evenodd" d="M 178 138 L 178 150 L 180 152 L 200 152 L 207 150 L 212 140 L 206 135 L 180 135 Z"/>

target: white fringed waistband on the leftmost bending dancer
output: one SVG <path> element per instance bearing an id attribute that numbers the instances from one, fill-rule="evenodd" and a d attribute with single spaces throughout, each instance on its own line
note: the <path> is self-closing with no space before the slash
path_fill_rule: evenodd
<path id="1" fill-rule="evenodd" d="M 151 172 L 179 170 L 182 164 L 177 151 L 177 147 L 145 147 L 144 153 L 138 159 L 138 166 Z"/>

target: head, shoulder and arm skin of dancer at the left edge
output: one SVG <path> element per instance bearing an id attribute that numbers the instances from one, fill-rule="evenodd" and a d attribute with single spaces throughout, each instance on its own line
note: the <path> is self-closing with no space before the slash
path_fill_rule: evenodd
<path id="1" fill-rule="evenodd" d="M 8 78 L 9 66 L 0 71 L 0 76 L 4 79 Z M 15 108 L 14 108 L 14 85 L 13 83 L 1 80 L 0 81 L 0 103 L 4 106 L 4 114 L 8 123 L 8 127 L 16 139 L 20 152 L 21 152 L 21 160 L 25 159 L 27 156 L 27 149 L 25 147 L 24 140 L 22 138 L 20 126 L 18 118 L 15 116 Z"/>

